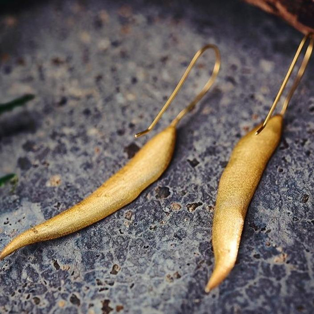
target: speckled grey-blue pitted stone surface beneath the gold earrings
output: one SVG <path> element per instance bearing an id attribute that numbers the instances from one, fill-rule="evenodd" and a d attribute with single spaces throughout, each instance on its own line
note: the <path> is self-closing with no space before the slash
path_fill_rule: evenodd
<path id="1" fill-rule="evenodd" d="M 180 124 L 174 158 L 137 200 L 0 262 L 1 313 L 313 313 L 314 60 L 246 216 L 237 264 L 204 293 L 219 177 L 260 122 L 302 35 L 238 1 L 38 1 L 0 15 L 0 247 L 95 190 L 150 138 L 195 51 L 222 68 Z M 208 53 L 156 129 L 202 87 Z"/>

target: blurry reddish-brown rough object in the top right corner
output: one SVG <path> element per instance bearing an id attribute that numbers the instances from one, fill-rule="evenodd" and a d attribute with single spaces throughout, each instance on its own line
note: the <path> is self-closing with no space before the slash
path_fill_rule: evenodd
<path id="1" fill-rule="evenodd" d="M 300 32 L 314 32 L 314 1 L 312 0 L 244 0 L 266 12 L 280 16 Z"/>

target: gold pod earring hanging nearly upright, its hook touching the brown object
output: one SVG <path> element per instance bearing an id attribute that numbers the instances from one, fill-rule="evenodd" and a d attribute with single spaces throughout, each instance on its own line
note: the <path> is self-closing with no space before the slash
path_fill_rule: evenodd
<path id="1" fill-rule="evenodd" d="M 308 38 L 309 46 L 282 110 L 279 115 L 272 116 Z M 313 45 L 313 34 L 302 39 L 265 121 L 236 144 L 220 178 L 212 230 L 215 266 L 206 292 L 220 284 L 235 265 L 247 208 L 268 160 L 279 144 L 284 112 L 304 74 Z"/>

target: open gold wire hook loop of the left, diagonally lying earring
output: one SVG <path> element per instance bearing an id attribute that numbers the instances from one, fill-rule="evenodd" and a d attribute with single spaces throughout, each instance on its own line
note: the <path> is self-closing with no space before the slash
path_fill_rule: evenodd
<path id="1" fill-rule="evenodd" d="M 200 101 L 203 98 L 203 96 L 207 93 L 208 89 L 210 89 L 210 87 L 213 85 L 213 83 L 214 83 L 214 81 L 218 75 L 220 62 L 221 62 L 221 57 L 220 57 L 220 52 L 219 52 L 218 47 L 216 45 L 211 45 L 211 44 L 204 46 L 203 48 L 201 48 L 200 50 L 198 50 L 196 52 L 196 54 L 192 58 L 190 64 L 188 65 L 187 69 L 183 73 L 183 75 L 182 75 L 179 83 L 177 84 L 176 88 L 174 89 L 174 91 L 172 92 L 172 94 L 170 95 L 168 100 L 165 102 L 165 105 L 161 108 L 158 115 L 154 118 L 153 122 L 150 124 L 150 126 L 145 131 L 142 131 L 142 132 L 135 134 L 136 138 L 138 138 L 144 134 L 149 133 L 149 131 L 151 131 L 153 129 L 153 127 L 160 120 L 161 116 L 164 114 L 164 112 L 170 106 L 172 100 L 174 100 L 174 98 L 178 94 L 179 90 L 181 89 L 182 85 L 184 84 L 185 80 L 187 79 L 187 76 L 191 72 L 195 62 L 203 54 L 203 52 L 208 50 L 208 49 L 213 49 L 215 51 L 215 54 L 216 54 L 216 61 L 215 61 L 213 73 L 212 73 L 211 77 L 208 79 L 207 83 L 204 85 L 203 89 L 198 93 L 198 95 L 196 95 L 196 97 L 190 102 L 190 104 L 186 108 L 184 108 L 176 116 L 176 118 L 171 122 L 171 124 L 176 125 L 189 111 L 191 111 L 195 107 L 195 105 L 198 103 L 198 101 Z"/>

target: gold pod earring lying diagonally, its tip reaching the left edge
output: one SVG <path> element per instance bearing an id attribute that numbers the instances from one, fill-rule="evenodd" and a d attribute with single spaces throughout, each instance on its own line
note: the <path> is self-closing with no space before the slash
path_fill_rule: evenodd
<path id="1" fill-rule="evenodd" d="M 135 136 L 146 134 L 155 126 L 176 97 L 195 62 L 208 49 L 213 49 L 216 55 L 213 73 L 201 92 L 176 116 L 170 126 L 149 140 L 120 171 L 111 176 L 83 201 L 14 238 L 3 249 L 0 259 L 3 259 L 20 247 L 68 235 L 105 218 L 131 203 L 146 187 L 161 176 L 168 167 L 174 151 L 176 125 L 202 99 L 218 75 L 220 53 L 217 46 L 206 45 L 196 52 L 176 88 L 154 121 L 147 130 Z"/>

